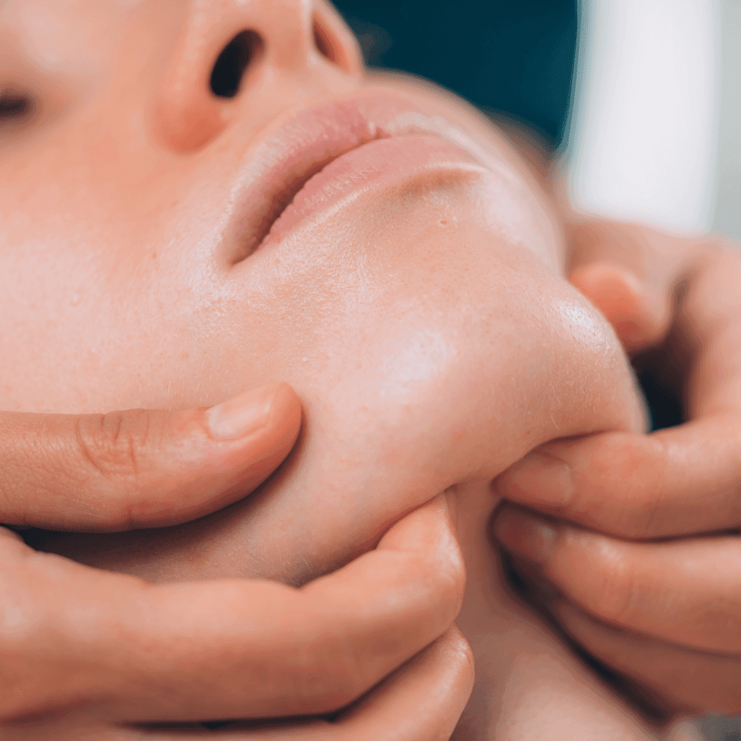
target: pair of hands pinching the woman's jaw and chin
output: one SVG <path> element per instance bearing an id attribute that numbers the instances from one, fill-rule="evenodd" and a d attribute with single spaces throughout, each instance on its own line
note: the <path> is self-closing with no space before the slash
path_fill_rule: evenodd
<path id="1" fill-rule="evenodd" d="M 529 509 L 505 505 L 495 534 L 556 586 L 549 609 L 576 642 L 663 708 L 739 712 L 741 259 L 607 222 L 573 225 L 571 243 L 571 280 L 631 353 L 658 348 L 690 422 L 534 451 L 496 482 Z M 212 411 L 4 414 L 0 519 L 67 531 L 185 522 L 259 485 L 299 425 L 285 385 Z M 247 579 L 148 585 L 36 554 L 4 531 L 1 722 L 21 739 L 28 719 L 71 707 L 76 728 L 90 712 L 91 728 L 123 740 L 136 737 L 131 723 L 322 714 L 404 664 L 338 721 L 296 733 L 445 738 L 473 681 L 452 625 L 465 581 L 454 530 L 438 497 L 376 551 L 299 590 Z"/>

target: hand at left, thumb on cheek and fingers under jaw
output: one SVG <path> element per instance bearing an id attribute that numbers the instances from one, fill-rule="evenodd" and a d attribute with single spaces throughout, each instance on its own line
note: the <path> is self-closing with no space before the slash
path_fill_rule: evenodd
<path id="1" fill-rule="evenodd" d="M 208 411 L 3 413 L 0 518 L 100 531 L 182 522 L 265 479 L 300 419 L 285 384 Z M 465 575 L 442 496 L 375 551 L 300 589 L 153 585 L 37 553 L 7 528 L 0 580 L 0 737 L 18 741 L 125 740 L 141 737 L 132 723 L 335 711 L 433 642 L 339 722 L 301 726 L 308 738 L 379 738 L 414 717 L 406 738 L 423 741 L 452 731 L 473 682 L 468 646 L 450 627 Z"/>

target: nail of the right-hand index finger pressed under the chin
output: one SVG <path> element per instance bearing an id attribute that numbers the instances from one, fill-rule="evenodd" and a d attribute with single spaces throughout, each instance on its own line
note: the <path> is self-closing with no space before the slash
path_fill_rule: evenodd
<path id="1" fill-rule="evenodd" d="M 513 499 L 533 505 L 567 505 L 574 496 L 568 464 L 541 453 L 530 453 L 515 463 L 505 474 L 505 486 L 521 493 Z"/>

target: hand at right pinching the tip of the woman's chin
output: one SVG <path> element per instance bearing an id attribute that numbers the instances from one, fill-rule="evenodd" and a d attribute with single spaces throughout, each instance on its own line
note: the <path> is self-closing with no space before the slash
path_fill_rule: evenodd
<path id="1" fill-rule="evenodd" d="M 659 704 L 741 714 L 740 253 L 608 222 L 572 239 L 574 284 L 687 421 L 542 446 L 497 480 L 529 510 L 505 506 L 494 533 L 556 586 L 565 630 Z"/>

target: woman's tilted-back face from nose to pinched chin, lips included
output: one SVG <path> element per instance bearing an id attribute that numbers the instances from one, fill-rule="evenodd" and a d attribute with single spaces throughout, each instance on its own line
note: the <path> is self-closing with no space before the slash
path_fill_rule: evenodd
<path id="1" fill-rule="evenodd" d="M 640 424 L 511 148 L 322 0 L 4 0 L 0 55 L 0 408 L 284 379 L 335 482 Z"/>

